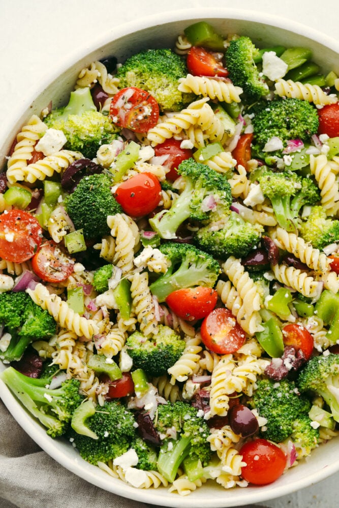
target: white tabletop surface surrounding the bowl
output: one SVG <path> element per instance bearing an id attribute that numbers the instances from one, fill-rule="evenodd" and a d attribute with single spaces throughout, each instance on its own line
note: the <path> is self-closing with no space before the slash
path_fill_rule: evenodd
<path id="1" fill-rule="evenodd" d="M 321 6 L 321 7 L 320 7 Z M 100 32 L 149 14 L 196 7 L 256 9 L 311 26 L 338 37 L 337 0 L 0 0 L 0 136 L 9 128 L 13 109 L 35 83 L 44 79 L 76 45 L 84 46 Z M 334 508 L 339 473 L 307 489 L 261 506 L 270 508 Z"/>

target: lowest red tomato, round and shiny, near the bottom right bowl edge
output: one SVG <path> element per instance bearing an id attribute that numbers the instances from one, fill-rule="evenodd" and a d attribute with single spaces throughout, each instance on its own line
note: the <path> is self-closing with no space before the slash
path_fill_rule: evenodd
<path id="1" fill-rule="evenodd" d="M 267 485 L 275 482 L 284 472 L 286 456 L 276 444 L 266 439 L 246 442 L 239 455 L 246 465 L 241 468 L 244 480 L 254 485 Z"/>

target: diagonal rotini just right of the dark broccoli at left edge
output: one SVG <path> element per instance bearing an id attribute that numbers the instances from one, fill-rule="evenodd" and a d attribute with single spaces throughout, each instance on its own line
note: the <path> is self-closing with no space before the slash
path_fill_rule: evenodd
<path id="1" fill-rule="evenodd" d="M 54 317 L 63 328 L 75 332 L 79 337 L 91 339 L 98 333 L 98 326 L 93 320 L 87 320 L 72 310 L 67 302 L 57 295 L 51 295 L 48 289 L 38 283 L 34 290 L 26 290 L 32 300 Z"/>

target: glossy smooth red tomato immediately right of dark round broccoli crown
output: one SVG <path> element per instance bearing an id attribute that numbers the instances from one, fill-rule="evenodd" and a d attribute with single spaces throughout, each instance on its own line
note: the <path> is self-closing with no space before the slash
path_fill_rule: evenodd
<path id="1" fill-rule="evenodd" d="M 120 183 L 114 196 L 125 213 L 132 217 L 142 217 L 159 205 L 161 185 L 155 175 L 139 173 Z"/>

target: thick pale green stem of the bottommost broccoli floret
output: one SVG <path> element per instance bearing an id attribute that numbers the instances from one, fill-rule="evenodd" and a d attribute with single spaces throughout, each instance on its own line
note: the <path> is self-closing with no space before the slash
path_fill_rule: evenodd
<path id="1" fill-rule="evenodd" d="M 172 450 L 168 450 L 168 444 L 167 441 L 160 449 L 158 471 L 172 483 L 181 462 L 190 452 L 191 437 L 181 437 L 178 441 L 174 441 Z"/>

